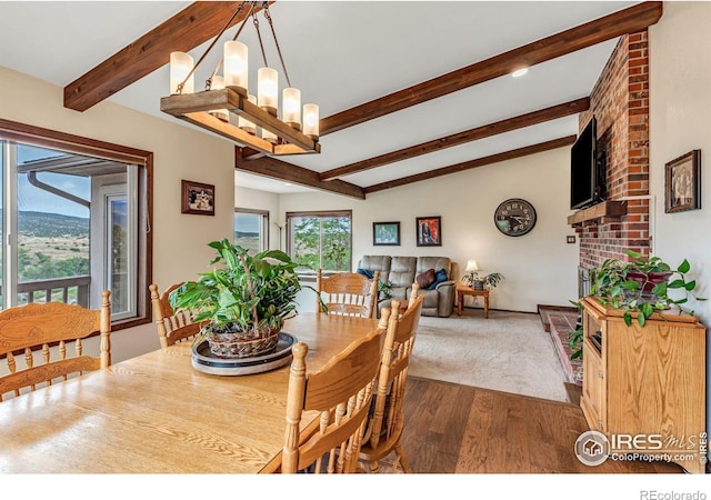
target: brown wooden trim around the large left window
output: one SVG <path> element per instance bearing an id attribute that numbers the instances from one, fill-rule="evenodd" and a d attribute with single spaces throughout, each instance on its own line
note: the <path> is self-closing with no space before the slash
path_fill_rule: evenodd
<path id="1" fill-rule="evenodd" d="M 70 153 L 86 154 L 107 160 L 136 164 L 137 193 L 141 229 L 138 231 L 138 258 L 136 291 L 138 293 L 137 314 L 130 319 L 117 319 L 111 329 L 122 330 L 151 322 L 151 301 L 148 286 L 153 279 L 153 153 L 127 146 L 89 139 L 81 136 L 29 126 L 0 118 L 0 139 L 30 146 L 51 148 Z"/>

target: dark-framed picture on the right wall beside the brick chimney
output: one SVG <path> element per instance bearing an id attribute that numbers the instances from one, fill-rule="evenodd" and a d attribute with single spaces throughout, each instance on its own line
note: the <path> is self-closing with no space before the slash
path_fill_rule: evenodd
<path id="1" fill-rule="evenodd" d="M 689 151 L 665 164 L 664 213 L 701 208 L 701 150 Z"/>

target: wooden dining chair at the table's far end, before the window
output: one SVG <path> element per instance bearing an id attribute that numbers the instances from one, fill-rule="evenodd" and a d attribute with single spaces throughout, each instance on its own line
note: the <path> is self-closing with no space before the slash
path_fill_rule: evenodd
<path id="1" fill-rule="evenodd" d="M 369 279 L 358 272 L 339 272 L 328 278 L 316 274 L 317 311 L 321 310 L 321 300 L 329 314 L 360 316 L 371 318 L 378 301 L 378 281 L 380 271 Z"/>

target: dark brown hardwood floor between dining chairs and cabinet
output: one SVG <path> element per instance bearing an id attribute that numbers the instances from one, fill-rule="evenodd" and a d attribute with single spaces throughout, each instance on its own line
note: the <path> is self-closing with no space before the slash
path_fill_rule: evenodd
<path id="1" fill-rule="evenodd" d="M 410 377 L 402 447 L 420 473 L 679 473 L 675 464 L 588 467 L 573 444 L 589 430 L 571 403 Z"/>

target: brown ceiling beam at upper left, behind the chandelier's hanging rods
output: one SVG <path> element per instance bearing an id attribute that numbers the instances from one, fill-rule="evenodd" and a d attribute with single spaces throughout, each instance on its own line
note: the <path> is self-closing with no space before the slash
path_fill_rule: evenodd
<path id="1" fill-rule="evenodd" d="M 64 107 L 86 111 L 170 61 L 214 38 L 242 2 L 193 2 L 64 87 Z M 270 2 L 273 3 L 273 2 Z M 254 7 L 256 11 L 262 7 Z M 250 12 L 244 8 L 230 26 Z"/>

